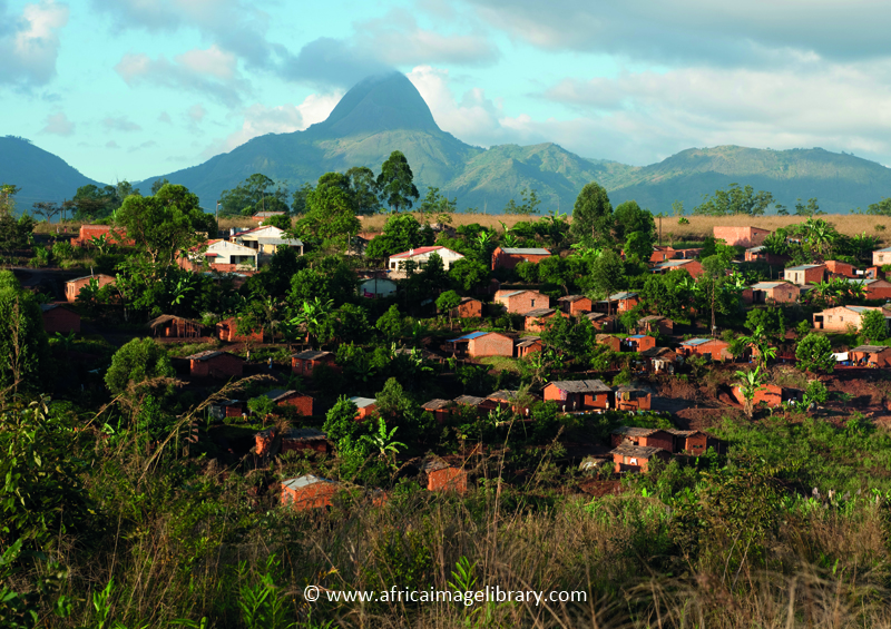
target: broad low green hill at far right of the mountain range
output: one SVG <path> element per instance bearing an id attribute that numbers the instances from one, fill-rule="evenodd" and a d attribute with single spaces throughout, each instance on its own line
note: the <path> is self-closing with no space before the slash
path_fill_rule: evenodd
<path id="1" fill-rule="evenodd" d="M 692 210 L 704 194 L 733 183 L 768 190 L 790 210 L 799 197 L 804 202 L 816 197 L 820 208 L 831 214 L 865 209 L 891 197 L 891 169 L 822 148 L 691 148 L 658 164 L 616 171 L 600 181 L 614 205 L 635 199 L 654 212 L 670 210 L 674 200 Z"/>

